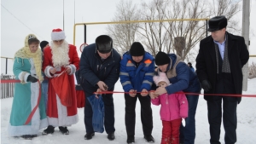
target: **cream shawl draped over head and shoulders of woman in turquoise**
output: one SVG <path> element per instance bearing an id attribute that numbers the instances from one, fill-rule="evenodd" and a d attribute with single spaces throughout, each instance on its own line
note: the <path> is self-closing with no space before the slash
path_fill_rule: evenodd
<path id="1" fill-rule="evenodd" d="M 31 37 L 36 37 L 36 36 L 33 34 L 29 34 L 26 36 L 25 46 L 23 48 L 19 49 L 15 53 L 15 58 L 21 58 L 21 59 L 32 58 L 35 68 L 36 68 L 38 79 L 40 80 L 40 82 L 42 82 L 44 80 L 44 78 L 42 76 L 42 52 L 40 49 L 38 49 L 35 53 L 32 53 L 30 51 L 29 45 L 28 45 L 28 39 Z"/>

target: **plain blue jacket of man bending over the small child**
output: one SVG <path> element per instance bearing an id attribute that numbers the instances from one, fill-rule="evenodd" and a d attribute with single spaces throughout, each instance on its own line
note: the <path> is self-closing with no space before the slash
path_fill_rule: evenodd
<path id="1" fill-rule="evenodd" d="M 167 66 L 166 72 L 171 70 L 176 63 L 177 56 L 175 54 L 168 54 L 172 60 L 172 67 L 169 64 Z M 190 70 L 190 67 L 187 66 L 183 61 L 179 62 L 176 66 L 175 77 L 169 78 L 171 85 L 166 87 L 167 93 L 173 94 L 177 91 L 199 93 L 201 91 L 201 84 L 197 78 L 195 72 Z"/>

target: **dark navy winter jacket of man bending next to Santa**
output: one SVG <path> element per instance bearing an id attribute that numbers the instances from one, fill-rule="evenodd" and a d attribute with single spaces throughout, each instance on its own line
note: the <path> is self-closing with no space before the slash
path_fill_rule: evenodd
<path id="1" fill-rule="evenodd" d="M 103 81 L 108 85 L 108 91 L 113 91 L 114 84 L 119 79 L 120 60 L 121 56 L 115 49 L 112 49 L 111 55 L 102 61 L 96 51 L 95 43 L 84 48 L 78 75 L 86 96 L 93 95 L 96 92 L 99 81 Z"/>

